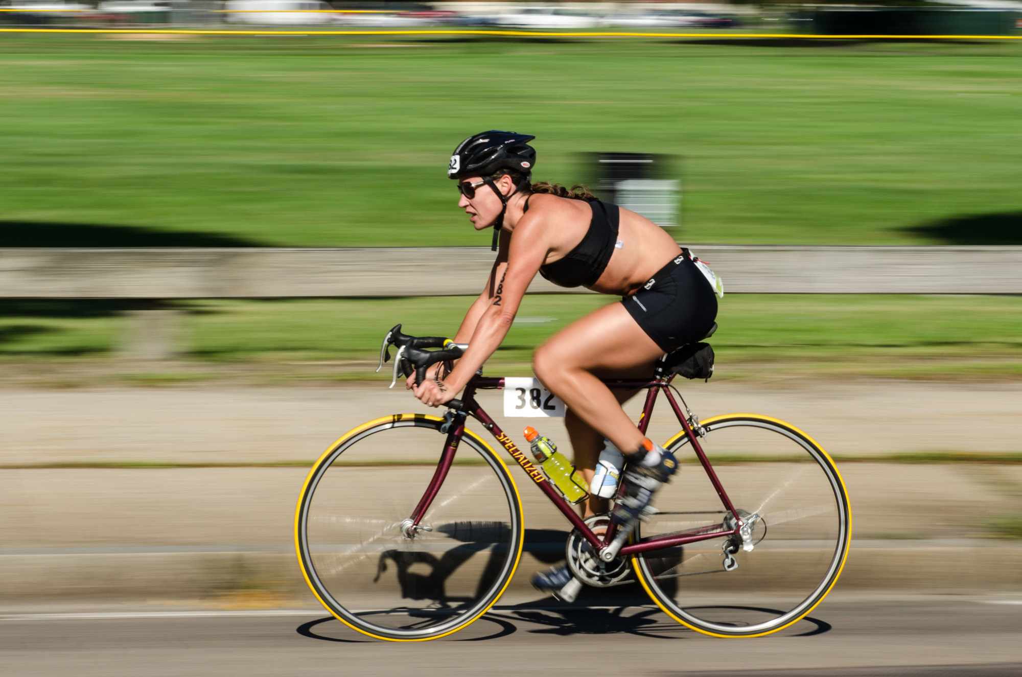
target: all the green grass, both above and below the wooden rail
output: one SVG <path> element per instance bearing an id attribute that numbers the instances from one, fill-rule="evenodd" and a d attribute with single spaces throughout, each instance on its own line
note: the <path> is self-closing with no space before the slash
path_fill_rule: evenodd
<path id="1" fill-rule="evenodd" d="M 537 179 L 580 178 L 585 151 L 677 154 L 683 241 L 1022 243 L 1020 57 L 997 42 L 5 35 L 0 246 L 486 244 L 445 178 L 486 128 L 539 137 Z M 527 373 L 540 342 L 607 302 L 527 298 L 491 369 Z M 450 333 L 467 303 L 185 304 L 191 366 L 130 378 L 366 377 L 389 326 Z M 1020 305 L 729 296 L 717 374 L 1018 378 Z M 3 302 L 0 362 L 64 382 L 112 363 L 126 327 L 109 303 Z"/>

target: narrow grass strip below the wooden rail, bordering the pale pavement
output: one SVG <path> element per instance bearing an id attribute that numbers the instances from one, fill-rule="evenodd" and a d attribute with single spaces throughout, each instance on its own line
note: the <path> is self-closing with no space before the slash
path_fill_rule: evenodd
<path id="1" fill-rule="evenodd" d="M 257 380 L 373 376 L 379 342 L 393 324 L 450 335 L 470 299 L 210 301 L 182 304 L 183 358 L 191 366 L 129 373 L 129 382 L 174 385 L 242 374 Z M 526 297 L 490 373 L 526 375 L 535 348 L 607 303 L 597 296 Z M 48 309 L 48 313 L 44 312 Z M 5 303 L 0 363 L 111 364 L 127 322 L 108 304 Z M 718 378 L 846 375 L 1022 378 L 1022 298 L 729 296 L 711 343 Z M 115 363 L 117 360 L 113 361 Z M 62 366 L 61 366 L 62 365 Z M 144 367 L 151 369 L 151 365 Z M 77 377 L 68 376 L 72 383 Z"/>

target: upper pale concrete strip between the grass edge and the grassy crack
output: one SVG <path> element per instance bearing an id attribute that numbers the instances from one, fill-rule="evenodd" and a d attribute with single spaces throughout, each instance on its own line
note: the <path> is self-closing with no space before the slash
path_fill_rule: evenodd
<path id="1" fill-rule="evenodd" d="M 367 420 L 429 409 L 398 386 L 0 389 L 0 464 L 76 461 L 268 462 L 315 459 Z M 834 455 L 1019 452 L 1022 383 L 895 380 L 684 381 L 700 417 L 754 412 L 808 433 Z M 566 445 L 562 419 L 504 418 L 503 391 L 479 401 L 514 439 L 533 424 Z M 641 398 L 626 409 L 638 418 Z M 483 433 L 478 424 L 469 425 Z M 657 403 L 653 440 L 679 430 Z"/>

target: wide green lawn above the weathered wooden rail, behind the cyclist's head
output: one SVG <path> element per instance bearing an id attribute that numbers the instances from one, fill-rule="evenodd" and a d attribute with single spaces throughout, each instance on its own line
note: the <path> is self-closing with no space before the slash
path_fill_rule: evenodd
<path id="1" fill-rule="evenodd" d="M 0 39 L 0 246 L 484 244 L 470 133 L 675 153 L 690 242 L 1022 241 L 1022 45 Z"/>

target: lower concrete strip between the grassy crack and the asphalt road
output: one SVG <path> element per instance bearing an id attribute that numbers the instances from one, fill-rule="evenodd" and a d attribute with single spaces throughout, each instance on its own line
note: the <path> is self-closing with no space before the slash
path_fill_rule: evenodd
<path id="1" fill-rule="evenodd" d="M 515 467 L 526 529 L 566 536 L 567 523 Z M 382 482 L 388 469 L 372 471 Z M 985 520 L 1022 507 L 1022 467 L 850 463 L 842 471 L 854 520 L 842 589 L 1022 589 L 1022 546 L 976 538 Z M 305 475 L 291 467 L 0 471 L 0 597 L 308 601 L 292 540 Z M 516 593 L 527 594 L 528 576 L 560 557 L 550 543 L 536 545 L 526 542 Z"/>

